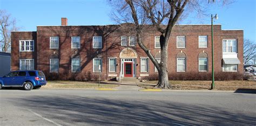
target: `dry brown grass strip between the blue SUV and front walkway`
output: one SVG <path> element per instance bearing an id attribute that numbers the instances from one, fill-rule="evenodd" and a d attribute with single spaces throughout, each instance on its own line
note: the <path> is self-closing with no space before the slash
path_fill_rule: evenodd
<path id="1" fill-rule="evenodd" d="M 113 88 L 117 87 L 118 84 L 100 84 L 98 81 L 47 81 L 45 86 L 42 88 Z"/>

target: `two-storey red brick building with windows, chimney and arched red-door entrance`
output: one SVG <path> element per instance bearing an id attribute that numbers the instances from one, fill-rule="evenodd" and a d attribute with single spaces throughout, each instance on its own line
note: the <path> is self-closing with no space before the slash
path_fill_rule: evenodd
<path id="1" fill-rule="evenodd" d="M 215 72 L 243 72 L 242 30 L 213 26 Z M 143 41 L 160 61 L 160 33 L 143 31 Z M 176 25 L 169 42 L 168 70 L 179 73 L 212 72 L 211 25 Z M 42 70 L 49 78 L 100 75 L 146 77 L 156 75 L 153 63 L 138 46 L 134 35 L 121 32 L 120 25 L 37 26 L 35 32 L 11 33 L 11 69 Z M 100 70 L 99 70 L 100 65 Z M 55 79 L 56 79 L 55 78 Z"/>

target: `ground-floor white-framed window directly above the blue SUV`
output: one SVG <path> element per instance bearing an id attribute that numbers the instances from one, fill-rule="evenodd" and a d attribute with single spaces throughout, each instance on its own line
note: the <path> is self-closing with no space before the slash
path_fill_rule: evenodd
<path id="1" fill-rule="evenodd" d="M 19 60 L 19 70 L 34 70 L 34 60 L 33 59 L 20 59 Z"/>

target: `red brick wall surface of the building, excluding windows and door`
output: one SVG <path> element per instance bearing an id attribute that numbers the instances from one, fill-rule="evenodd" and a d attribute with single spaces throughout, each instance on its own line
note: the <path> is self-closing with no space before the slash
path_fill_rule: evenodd
<path id="1" fill-rule="evenodd" d="M 140 72 L 140 58 L 147 57 L 142 49 L 136 46 L 121 46 L 120 36 L 126 35 L 119 31 L 118 25 L 107 26 L 37 26 L 36 32 L 12 32 L 11 33 L 11 69 L 20 69 L 20 59 L 33 59 L 34 69 L 44 71 L 45 75 L 58 76 L 58 79 L 70 79 L 71 76 L 82 77 L 88 74 L 98 75 L 93 72 L 93 58 L 102 59 L 103 79 L 111 79 L 111 76 L 119 77 L 121 72 L 120 52 L 123 49 L 130 49 L 136 52 L 134 76 L 148 76 L 156 74 L 153 63 L 149 60 L 148 72 Z M 158 55 L 160 49 L 155 47 L 155 36 L 160 34 L 157 31 L 145 31 L 143 41 L 151 50 L 153 55 Z M 214 68 L 215 72 L 223 72 L 223 40 L 237 40 L 238 73 L 243 72 L 243 37 L 242 30 L 221 30 L 221 25 L 214 25 Z M 207 36 L 207 48 L 199 48 L 199 36 Z M 50 49 L 50 37 L 59 37 L 59 48 Z M 80 36 L 80 48 L 71 49 L 71 37 Z M 93 36 L 102 36 L 102 49 L 92 48 Z M 185 36 L 185 48 L 177 48 L 177 36 Z M 19 51 L 20 40 L 34 40 L 34 51 Z M 168 70 L 171 75 L 177 73 L 177 54 L 182 52 L 186 56 L 186 71 L 190 73 L 211 73 L 212 71 L 212 50 L 211 50 L 211 25 L 178 25 L 173 28 L 169 40 L 169 63 Z M 206 53 L 208 66 L 206 72 L 199 72 L 199 53 Z M 50 57 L 57 55 L 59 58 L 58 73 L 50 73 Z M 74 55 L 80 56 L 80 72 L 71 72 L 71 58 Z M 116 72 L 109 72 L 109 58 L 117 59 Z M 129 57 L 127 57 L 129 58 Z M 53 77 L 52 77 L 53 78 Z"/>

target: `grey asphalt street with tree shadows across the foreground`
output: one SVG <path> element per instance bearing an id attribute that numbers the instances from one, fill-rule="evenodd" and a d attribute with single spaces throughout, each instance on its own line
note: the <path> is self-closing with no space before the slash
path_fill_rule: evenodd
<path id="1" fill-rule="evenodd" d="M 255 125 L 256 94 L 0 90 L 0 125 Z"/>

